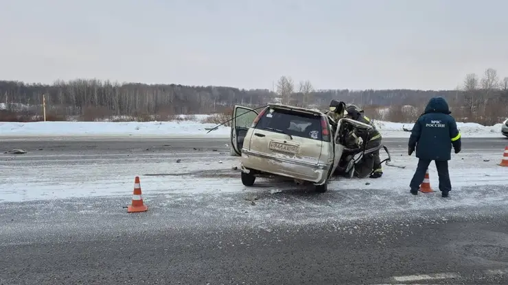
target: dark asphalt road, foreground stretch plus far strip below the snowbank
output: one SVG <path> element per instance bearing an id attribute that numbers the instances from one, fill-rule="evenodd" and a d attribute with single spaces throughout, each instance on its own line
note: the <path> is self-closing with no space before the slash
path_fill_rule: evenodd
<path id="1" fill-rule="evenodd" d="M 404 150 L 406 142 L 385 139 L 391 150 Z M 226 156 L 227 143 L 0 138 L 0 151 L 32 155 L 19 160 L 41 159 L 34 153 L 76 160 L 132 152 Z M 503 138 L 463 138 L 469 151 L 501 153 L 505 145 Z M 489 191 L 499 190 L 508 188 Z M 0 284 L 508 284 L 505 206 L 359 212 L 345 219 L 323 211 L 330 200 L 343 199 L 338 192 L 266 195 L 257 206 L 240 195 L 150 197 L 148 212 L 137 214 L 126 213 L 126 199 L 113 197 L 0 203 Z"/>

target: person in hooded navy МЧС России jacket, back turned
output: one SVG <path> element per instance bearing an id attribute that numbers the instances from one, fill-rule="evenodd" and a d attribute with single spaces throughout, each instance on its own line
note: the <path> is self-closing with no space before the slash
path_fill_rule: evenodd
<path id="1" fill-rule="evenodd" d="M 435 161 L 439 175 L 439 190 L 442 197 L 448 197 L 452 190 L 448 160 L 451 159 L 452 146 L 455 153 L 461 151 L 461 133 L 455 119 L 450 116 L 448 103 L 442 97 L 430 99 L 424 114 L 416 121 L 408 142 L 408 154 L 416 148 L 418 166 L 411 179 L 411 194 L 417 195 L 424 182 L 425 173 L 432 160 Z"/>

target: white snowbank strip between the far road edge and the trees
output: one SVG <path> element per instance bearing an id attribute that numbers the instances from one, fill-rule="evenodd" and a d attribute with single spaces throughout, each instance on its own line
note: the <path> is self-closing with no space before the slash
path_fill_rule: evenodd
<path id="1" fill-rule="evenodd" d="M 218 136 L 229 137 L 229 127 L 220 126 L 212 132 L 216 124 L 200 123 L 205 115 L 197 116 L 196 121 L 169 122 L 35 122 L 0 123 L 1 136 Z M 406 138 L 412 123 L 391 123 L 376 121 L 378 129 L 386 138 Z M 476 123 L 457 123 L 463 137 L 502 137 L 502 124 L 483 126 Z"/>

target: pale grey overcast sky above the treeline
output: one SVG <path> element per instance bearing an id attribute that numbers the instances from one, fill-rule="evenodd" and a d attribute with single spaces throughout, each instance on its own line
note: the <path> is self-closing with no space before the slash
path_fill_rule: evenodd
<path id="1" fill-rule="evenodd" d="M 452 89 L 508 76 L 508 1 L 0 0 L 0 79 Z"/>

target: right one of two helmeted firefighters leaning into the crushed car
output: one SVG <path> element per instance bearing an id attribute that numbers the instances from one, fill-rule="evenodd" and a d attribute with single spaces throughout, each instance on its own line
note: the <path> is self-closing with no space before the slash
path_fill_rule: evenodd
<path id="1" fill-rule="evenodd" d="M 376 129 L 376 126 L 374 126 L 371 119 L 365 116 L 363 114 L 363 110 L 360 110 L 358 106 L 354 104 L 347 106 L 345 118 L 353 119 L 355 121 L 372 126 L 372 129 L 369 129 L 368 131 L 369 137 L 365 149 L 372 149 L 374 147 L 378 147 L 381 145 L 382 136 L 380 132 Z M 372 153 L 368 153 L 363 159 L 362 164 L 363 166 L 367 166 L 371 171 L 370 173 L 371 178 L 379 178 L 383 175 L 383 170 L 381 167 L 381 159 L 379 157 L 379 149 Z"/>

